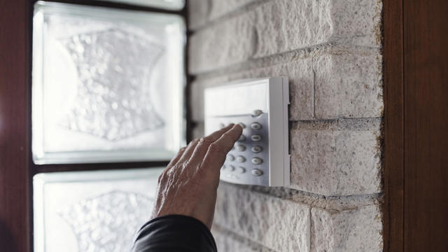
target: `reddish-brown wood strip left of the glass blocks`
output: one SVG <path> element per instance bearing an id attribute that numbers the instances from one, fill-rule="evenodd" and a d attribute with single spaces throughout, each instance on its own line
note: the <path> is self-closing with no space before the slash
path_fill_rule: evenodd
<path id="1" fill-rule="evenodd" d="M 29 251 L 29 14 L 0 1 L 0 250 Z"/>

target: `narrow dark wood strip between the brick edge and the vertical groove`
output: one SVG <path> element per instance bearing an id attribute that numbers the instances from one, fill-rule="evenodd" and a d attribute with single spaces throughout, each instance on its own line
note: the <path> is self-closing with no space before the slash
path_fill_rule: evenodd
<path id="1" fill-rule="evenodd" d="M 384 250 L 403 251 L 403 34 L 402 1 L 386 0 L 384 34 Z"/>

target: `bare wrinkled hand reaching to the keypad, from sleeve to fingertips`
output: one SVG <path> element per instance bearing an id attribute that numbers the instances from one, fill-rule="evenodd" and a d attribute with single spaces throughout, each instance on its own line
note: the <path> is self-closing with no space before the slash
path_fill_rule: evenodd
<path id="1" fill-rule="evenodd" d="M 152 218 L 169 214 L 191 216 L 211 228 L 220 169 L 242 132 L 230 124 L 177 153 L 159 176 Z"/>

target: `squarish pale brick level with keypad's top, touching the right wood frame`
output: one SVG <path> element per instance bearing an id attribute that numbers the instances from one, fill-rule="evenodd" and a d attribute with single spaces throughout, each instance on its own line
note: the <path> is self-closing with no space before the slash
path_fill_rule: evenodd
<path id="1" fill-rule="evenodd" d="M 316 118 L 381 117 L 381 55 L 329 54 L 316 57 Z"/>

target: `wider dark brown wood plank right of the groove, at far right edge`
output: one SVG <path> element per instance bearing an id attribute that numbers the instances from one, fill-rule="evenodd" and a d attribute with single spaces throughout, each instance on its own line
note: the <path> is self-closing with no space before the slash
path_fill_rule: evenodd
<path id="1" fill-rule="evenodd" d="M 448 1 L 404 1 L 405 251 L 448 251 Z"/>

